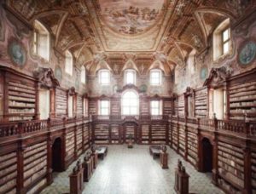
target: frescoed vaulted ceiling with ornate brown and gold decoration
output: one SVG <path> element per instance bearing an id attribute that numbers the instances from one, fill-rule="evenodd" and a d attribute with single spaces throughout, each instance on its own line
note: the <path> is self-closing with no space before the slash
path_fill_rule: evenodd
<path id="1" fill-rule="evenodd" d="M 242 2 L 242 3 L 241 3 Z M 253 0 L 9 0 L 30 25 L 40 20 L 69 49 L 79 65 L 127 59 L 160 60 L 183 66 L 191 51 L 209 46 L 209 36 L 226 18 L 237 20 Z"/>

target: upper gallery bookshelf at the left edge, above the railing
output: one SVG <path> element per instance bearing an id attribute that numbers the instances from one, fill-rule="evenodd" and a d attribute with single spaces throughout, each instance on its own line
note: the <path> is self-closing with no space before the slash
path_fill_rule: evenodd
<path id="1" fill-rule="evenodd" d="M 0 66 L 0 76 L 0 119 L 38 119 L 38 80 L 4 66 Z"/>

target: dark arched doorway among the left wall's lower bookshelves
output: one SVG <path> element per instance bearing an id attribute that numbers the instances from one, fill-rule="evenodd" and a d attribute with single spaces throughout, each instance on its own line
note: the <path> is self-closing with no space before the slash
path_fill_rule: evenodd
<path id="1" fill-rule="evenodd" d="M 52 169 L 54 172 L 62 171 L 61 164 L 61 138 L 55 139 L 54 144 L 52 145 Z"/>

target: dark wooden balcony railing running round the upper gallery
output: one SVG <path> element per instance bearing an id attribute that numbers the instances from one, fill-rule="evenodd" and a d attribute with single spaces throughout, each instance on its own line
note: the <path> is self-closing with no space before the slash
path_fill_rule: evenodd
<path id="1" fill-rule="evenodd" d="M 47 131 L 51 129 L 65 128 L 72 124 L 83 122 L 99 122 L 99 121 L 120 121 L 120 122 L 170 122 L 179 124 L 193 124 L 195 128 L 203 130 L 213 130 L 225 134 L 240 134 L 247 137 L 256 137 L 256 122 L 243 122 L 236 120 L 218 120 L 216 118 L 197 118 L 197 117 L 177 117 L 177 116 L 99 116 L 90 117 L 71 117 L 71 118 L 53 118 L 47 120 L 35 120 L 20 123 L 0 123 L 0 138 L 11 137 L 21 134 L 29 134 L 38 131 Z"/>

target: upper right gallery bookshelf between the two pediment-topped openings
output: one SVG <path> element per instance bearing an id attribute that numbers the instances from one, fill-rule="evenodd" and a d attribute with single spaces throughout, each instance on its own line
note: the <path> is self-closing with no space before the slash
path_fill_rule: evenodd
<path id="1" fill-rule="evenodd" d="M 207 117 L 207 88 L 195 90 L 195 117 Z"/>

